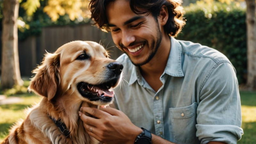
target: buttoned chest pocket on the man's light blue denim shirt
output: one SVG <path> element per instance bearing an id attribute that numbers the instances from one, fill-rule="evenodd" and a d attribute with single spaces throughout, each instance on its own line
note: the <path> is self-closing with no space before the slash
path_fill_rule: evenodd
<path id="1" fill-rule="evenodd" d="M 196 138 L 196 108 L 194 102 L 188 107 L 170 108 L 170 123 L 176 143 L 191 143 Z"/>

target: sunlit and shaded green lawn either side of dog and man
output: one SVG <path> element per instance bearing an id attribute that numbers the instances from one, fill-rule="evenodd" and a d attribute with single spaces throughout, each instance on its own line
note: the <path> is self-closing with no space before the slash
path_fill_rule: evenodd
<path id="1" fill-rule="evenodd" d="M 238 144 L 254 144 L 256 141 L 256 92 L 240 92 L 242 103 L 242 128 L 244 135 Z M 0 105 L 0 142 L 8 135 L 8 129 L 18 119 L 25 118 L 26 108 L 39 102 L 41 97 L 34 94 L 15 95 L 22 101 Z"/>

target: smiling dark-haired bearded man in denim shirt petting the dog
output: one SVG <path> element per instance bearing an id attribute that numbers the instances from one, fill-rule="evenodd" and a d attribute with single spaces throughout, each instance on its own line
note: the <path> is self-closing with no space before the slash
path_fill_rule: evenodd
<path id="1" fill-rule="evenodd" d="M 92 20 L 125 54 L 114 108 L 81 108 L 103 143 L 236 143 L 241 103 L 235 70 L 220 52 L 178 41 L 185 25 L 174 0 L 92 0 Z M 127 81 L 127 82 L 126 82 Z M 140 128 L 143 127 L 143 128 Z"/>

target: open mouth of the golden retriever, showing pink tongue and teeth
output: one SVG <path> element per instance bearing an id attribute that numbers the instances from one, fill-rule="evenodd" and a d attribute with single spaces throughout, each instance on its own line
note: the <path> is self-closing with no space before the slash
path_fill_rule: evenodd
<path id="1" fill-rule="evenodd" d="M 77 84 L 78 92 L 91 101 L 100 100 L 103 103 L 110 102 L 114 97 L 113 86 L 117 83 L 117 79 L 110 80 L 101 84 L 88 84 L 80 82 Z"/>

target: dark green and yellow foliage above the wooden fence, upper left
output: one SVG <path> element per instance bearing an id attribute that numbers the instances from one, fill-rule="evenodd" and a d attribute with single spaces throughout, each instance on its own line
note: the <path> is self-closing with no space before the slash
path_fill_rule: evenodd
<path id="1" fill-rule="evenodd" d="M 44 7 L 48 5 L 47 2 L 48 0 L 23 0 L 20 2 L 19 19 L 25 22 L 28 28 L 19 27 L 19 40 L 23 41 L 29 36 L 40 35 L 43 27 L 64 25 L 72 26 L 90 22 L 89 18 L 82 17 L 80 17 L 80 19 L 70 20 L 70 16 L 68 14 L 59 16 L 57 21 L 52 21 L 51 18 L 44 12 Z M 0 31 L 2 31 L 2 19 L 3 0 L 0 0 Z"/>

